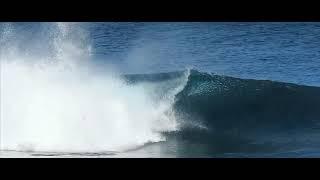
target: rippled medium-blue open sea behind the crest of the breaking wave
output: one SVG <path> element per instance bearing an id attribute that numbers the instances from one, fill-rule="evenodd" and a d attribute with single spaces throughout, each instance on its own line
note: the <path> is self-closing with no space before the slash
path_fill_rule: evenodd
<path id="1" fill-rule="evenodd" d="M 96 56 L 125 72 L 193 67 L 320 85 L 320 23 L 96 23 L 88 28 Z"/>

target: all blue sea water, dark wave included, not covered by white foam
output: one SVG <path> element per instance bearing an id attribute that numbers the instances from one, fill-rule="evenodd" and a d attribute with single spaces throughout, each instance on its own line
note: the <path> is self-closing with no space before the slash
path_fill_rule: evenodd
<path id="1" fill-rule="evenodd" d="M 44 43 L 47 25 L 15 26 L 23 32 L 17 40 L 42 44 L 34 51 L 50 46 Z M 200 117 L 209 130 L 168 133 L 166 142 L 147 144 L 127 156 L 320 155 L 320 23 L 110 22 L 75 26 L 86 32 L 83 41 L 92 45 L 97 71 L 113 66 L 123 74 L 142 74 L 140 80 L 154 81 L 167 75 L 171 78 L 169 72 L 193 69 L 174 108 L 182 119 Z M 74 34 L 75 39 L 80 37 Z M 155 75 L 149 77 L 149 73 Z"/>

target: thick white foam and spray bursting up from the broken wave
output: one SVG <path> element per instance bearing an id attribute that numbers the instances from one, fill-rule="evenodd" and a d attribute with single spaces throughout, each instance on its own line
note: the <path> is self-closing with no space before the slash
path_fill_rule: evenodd
<path id="1" fill-rule="evenodd" d="M 91 47 L 75 24 L 48 26 L 55 27 L 47 53 L 54 56 L 48 57 L 20 53 L 8 43 L 15 34 L 2 33 L 2 150 L 123 151 L 163 141 L 161 132 L 178 129 L 171 106 L 187 73 L 168 82 L 173 90 L 157 99 L 153 92 L 161 87 L 128 85 L 116 71 L 95 74 Z"/>

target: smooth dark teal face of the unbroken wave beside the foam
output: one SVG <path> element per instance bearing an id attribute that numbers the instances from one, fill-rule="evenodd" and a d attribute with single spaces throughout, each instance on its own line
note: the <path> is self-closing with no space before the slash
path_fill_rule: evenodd
<path id="1" fill-rule="evenodd" d="M 320 88 L 192 71 L 175 109 L 209 127 L 299 128 L 320 120 Z"/>

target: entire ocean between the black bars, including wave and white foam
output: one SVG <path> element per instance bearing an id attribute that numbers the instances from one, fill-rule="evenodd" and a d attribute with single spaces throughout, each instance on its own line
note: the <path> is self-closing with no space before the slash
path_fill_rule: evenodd
<path id="1" fill-rule="evenodd" d="M 0 157 L 319 157 L 320 23 L 0 23 Z"/>

